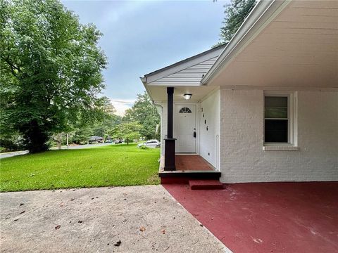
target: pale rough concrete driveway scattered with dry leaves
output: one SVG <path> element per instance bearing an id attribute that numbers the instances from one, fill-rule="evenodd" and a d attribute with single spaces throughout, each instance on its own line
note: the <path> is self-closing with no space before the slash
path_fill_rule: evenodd
<path id="1" fill-rule="evenodd" d="M 227 252 L 162 186 L 0 194 L 1 252 Z"/>

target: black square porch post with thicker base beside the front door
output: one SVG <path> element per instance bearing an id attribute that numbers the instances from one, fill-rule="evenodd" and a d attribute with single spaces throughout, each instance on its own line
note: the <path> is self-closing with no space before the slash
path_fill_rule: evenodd
<path id="1" fill-rule="evenodd" d="M 167 88 L 168 94 L 168 126 L 167 126 L 167 138 L 165 141 L 165 152 L 164 152 L 164 170 L 173 171 L 175 170 L 175 141 L 173 138 L 173 108 L 174 108 L 174 88 Z"/>

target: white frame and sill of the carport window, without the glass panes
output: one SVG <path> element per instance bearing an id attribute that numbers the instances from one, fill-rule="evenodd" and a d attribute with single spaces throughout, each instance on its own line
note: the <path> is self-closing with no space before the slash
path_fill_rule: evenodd
<path id="1" fill-rule="evenodd" d="M 265 97 L 287 97 L 287 143 L 265 142 Z M 266 118 L 272 119 L 272 118 Z M 263 95 L 263 145 L 264 146 L 296 146 L 296 92 L 264 91 Z"/>

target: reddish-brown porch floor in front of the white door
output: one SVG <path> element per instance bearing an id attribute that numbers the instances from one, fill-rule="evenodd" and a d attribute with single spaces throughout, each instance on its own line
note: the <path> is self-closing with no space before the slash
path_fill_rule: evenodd
<path id="1" fill-rule="evenodd" d="M 176 155 L 176 171 L 214 171 L 215 169 L 199 155 Z"/>

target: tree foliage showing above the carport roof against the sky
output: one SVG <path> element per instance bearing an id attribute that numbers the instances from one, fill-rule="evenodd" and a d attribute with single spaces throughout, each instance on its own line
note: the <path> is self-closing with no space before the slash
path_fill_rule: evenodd
<path id="1" fill-rule="evenodd" d="M 231 0 L 230 4 L 224 6 L 224 26 L 220 28 L 220 41 L 215 46 L 230 41 L 255 5 L 256 0 Z"/>

